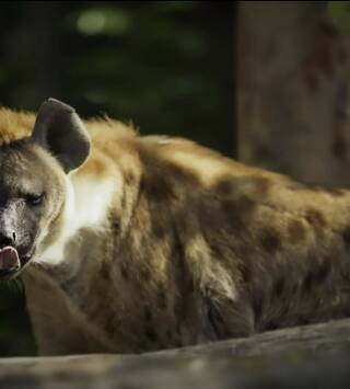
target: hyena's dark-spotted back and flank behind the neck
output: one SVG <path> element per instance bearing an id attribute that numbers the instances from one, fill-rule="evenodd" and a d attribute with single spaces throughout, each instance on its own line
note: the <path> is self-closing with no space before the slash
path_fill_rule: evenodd
<path id="1" fill-rule="evenodd" d="M 349 192 L 180 139 L 141 138 L 138 156 L 127 248 L 151 273 L 151 306 L 163 302 L 185 337 L 191 328 L 222 339 L 350 313 Z"/>

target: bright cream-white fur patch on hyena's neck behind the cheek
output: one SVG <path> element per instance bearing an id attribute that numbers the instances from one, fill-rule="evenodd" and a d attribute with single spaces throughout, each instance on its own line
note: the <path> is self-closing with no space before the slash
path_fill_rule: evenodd
<path id="1" fill-rule="evenodd" d="M 109 216 L 116 208 L 120 208 L 124 179 L 117 165 L 104 159 L 101 160 L 101 156 L 94 152 L 91 161 L 81 171 L 67 176 L 67 201 L 61 232 L 37 262 L 52 266 L 72 262 L 70 248 L 74 241 L 85 240 L 86 231 L 91 239 L 94 234 L 109 230 Z M 100 163 L 98 169 L 94 171 L 96 163 Z M 77 254 L 81 256 L 80 253 Z"/>

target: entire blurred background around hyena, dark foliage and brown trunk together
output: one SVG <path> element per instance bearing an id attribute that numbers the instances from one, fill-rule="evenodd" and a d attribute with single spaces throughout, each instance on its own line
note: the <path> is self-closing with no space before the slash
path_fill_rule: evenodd
<path id="1" fill-rule="evenodd" d="M 303 181 L 350 182 L 348 1 L 4 1 L 0 105 L 184 136 Z M 0 285 L 0 356 L 33 355 Z"/>

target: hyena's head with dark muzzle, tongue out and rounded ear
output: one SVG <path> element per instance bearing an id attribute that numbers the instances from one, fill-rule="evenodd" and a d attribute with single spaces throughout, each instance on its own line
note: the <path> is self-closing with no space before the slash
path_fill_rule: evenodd
<path id="1" fill-rule="evenodd" d="M 89 152 L 90 138 L 74 110 L 52 99 L 39 108 L 30 137 L 0 146 L 1 278 L 16 275 L 58 238 L 67 174 Z"/>

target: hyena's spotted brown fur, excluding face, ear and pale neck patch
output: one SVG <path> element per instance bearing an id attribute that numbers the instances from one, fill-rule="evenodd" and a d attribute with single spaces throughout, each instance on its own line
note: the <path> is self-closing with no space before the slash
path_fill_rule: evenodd
<path id="1" fill-rule="evenodd" d="M 33 123 L 0 111 L 0 137 L 27 137 Z M 117 169 L 122 187 L 67 261 L 23 274 L 42 353 L 144 352 L 350 313 L 350 192 L 85 124 L 93 149 L 72 180 L 100 185 Z"/>

